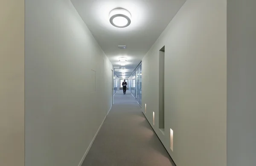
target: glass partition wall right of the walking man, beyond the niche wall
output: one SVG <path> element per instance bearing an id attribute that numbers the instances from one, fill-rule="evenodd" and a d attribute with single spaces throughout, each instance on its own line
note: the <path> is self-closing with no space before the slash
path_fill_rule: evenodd
<path id="1" fill-rule="evenodd" d="M 131 94 L 141 106 L 142 99 L 142 64 L 140 63 L 129 77 L 129 88 Z"/>

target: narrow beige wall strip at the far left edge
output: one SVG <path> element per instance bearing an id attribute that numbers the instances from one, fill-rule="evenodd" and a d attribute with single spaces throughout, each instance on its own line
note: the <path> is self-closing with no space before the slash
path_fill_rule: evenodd
<path id="1" fill-rule="evenodd" d="M 0 166 L 24 166 L 24 0 L 0 1 Z"/>

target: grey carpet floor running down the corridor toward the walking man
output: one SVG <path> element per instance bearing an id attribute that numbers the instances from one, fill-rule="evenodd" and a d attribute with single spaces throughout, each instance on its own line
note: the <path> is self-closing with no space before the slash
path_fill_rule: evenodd
<path id="1" fill-rule="evenodd" d="M 175 166 L 140 106 L 122 90 L 82 166 Z"/>

